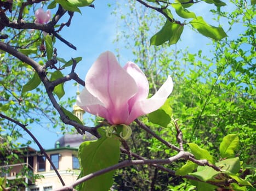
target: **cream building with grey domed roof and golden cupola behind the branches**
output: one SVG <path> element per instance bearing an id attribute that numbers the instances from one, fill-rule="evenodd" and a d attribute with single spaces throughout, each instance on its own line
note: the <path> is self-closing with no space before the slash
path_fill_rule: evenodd
<path id="1" fill-rule="evenodd" d="M 74 106 L 74 114 L 82 121 L 83 110 Z M 75 182 L 79 175 L 79 161 L 77 151 L 83 141 L 94 140 L 92 134 L 66 134 L 55 142 L 52 149 L 45 150 L 56 169 L 58 169 L 65 184 Z M 58 176 L 50 165 L 46 157 L 31 147 L 20 148 L 16 151 L 18 160 L 15 163 L 6 164 L 0 160 L 0 175 L 7 181 L 18 185 L 18 190 L 22 191 L 46 191 L 53 190 L 62 186 Z M 1 154 L 0 154 L 1 155 Z M 4 156 L 0 156 L 2 159 Z M 30 176 L 35 175 L 38 179 L 33 181 Z M 33 177 L 33 176 L 31 176 Z M 19 183 L 25 181 L 29 186 L 25 187 Z"/>

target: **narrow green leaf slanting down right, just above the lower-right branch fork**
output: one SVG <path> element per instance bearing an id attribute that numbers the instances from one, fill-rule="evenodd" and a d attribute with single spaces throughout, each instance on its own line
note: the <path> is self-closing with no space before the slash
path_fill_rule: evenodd
<path id="1" fill-rule="evenodd" d="M 188 145 L 191 149 L 192 154 L 194 154 L 196 159 L 198 160 L 206 159 L 211 164 L 215 163 L 213 156 L 211 156 L 211 154 L 207 150 L 200 148 L 198 145 L 194 143 L 188 143 Z"/>

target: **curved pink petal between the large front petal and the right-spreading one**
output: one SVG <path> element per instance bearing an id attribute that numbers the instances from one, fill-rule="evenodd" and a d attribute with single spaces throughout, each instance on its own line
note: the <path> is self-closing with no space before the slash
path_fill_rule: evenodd
<path id="1" fill-rule="evenodd" d="M 141 69 L 135 63 L 127 62 L 123 68 L 128 72 L 128 74 L 130 74 L 130 76 L 133 77 L 138 88 L 137 93 L 129 100 L 130 112 L 135 102 L 146 99 L 147 96 L 149 96 L 149 82 L 147 81 L 143 71 L 141 71 Z"/>

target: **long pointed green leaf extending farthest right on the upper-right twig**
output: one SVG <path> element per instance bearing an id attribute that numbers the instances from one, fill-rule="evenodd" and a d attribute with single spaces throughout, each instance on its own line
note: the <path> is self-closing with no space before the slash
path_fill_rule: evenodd
<path id="1" fill-rule="evenodd" d="M 198 32 L 214 40 L 221 40 L 227 37 L 227 34 L 224 32 L 223 28 L 209 25 L 201 16 L 198 16 L 197 19 L 190 21 L 190 24 L 192 27 L 197 29 Z"/>

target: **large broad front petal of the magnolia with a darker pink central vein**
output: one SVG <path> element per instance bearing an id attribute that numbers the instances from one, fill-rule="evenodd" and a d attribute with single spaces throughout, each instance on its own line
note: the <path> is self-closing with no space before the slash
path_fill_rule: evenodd
<path id="1" fill-rule="evenodd" d="M 86 76 L 86 88 L 109 111 L 110 123 L 126 122 L 128 100 L 137 92 L 136 82 L 110 51 L 101 53 Z"/>

